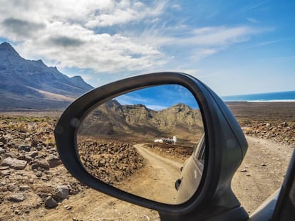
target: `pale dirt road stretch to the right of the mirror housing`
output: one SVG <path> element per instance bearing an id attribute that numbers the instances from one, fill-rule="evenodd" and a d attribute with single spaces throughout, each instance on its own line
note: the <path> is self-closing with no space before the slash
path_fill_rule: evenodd
<path id="1" fill-rule="evenodd" d="M 293 149 L 271 140 L 246 138 L 249 148 L 232 179 L 232 189 L 251 213 L 281 185 Z"/>

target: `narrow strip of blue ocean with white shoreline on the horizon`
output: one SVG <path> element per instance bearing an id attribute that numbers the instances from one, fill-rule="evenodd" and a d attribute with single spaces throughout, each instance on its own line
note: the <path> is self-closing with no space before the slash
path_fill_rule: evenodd
<path id="1" fill-rule="evenodd" d="M 224 102 L 295 102 L 295 91 L 222 97 Z"/>

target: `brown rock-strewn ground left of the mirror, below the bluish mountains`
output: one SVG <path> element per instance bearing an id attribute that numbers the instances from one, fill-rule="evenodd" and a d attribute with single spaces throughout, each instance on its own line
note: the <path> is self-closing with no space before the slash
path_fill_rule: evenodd
<path id="1" fill-rule="evenodd" d="M 56 119 L 1 117 L 0 220 L 56 207 L 81 185 L 63 167 L 53 138 Z"/>

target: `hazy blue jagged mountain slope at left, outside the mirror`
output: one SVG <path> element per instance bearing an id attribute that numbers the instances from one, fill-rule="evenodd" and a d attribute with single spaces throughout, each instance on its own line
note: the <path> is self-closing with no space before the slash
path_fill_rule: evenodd
<path id="1" fill-rule="evenodd" d="M 0 44 L 0 109 L 63 109 L 93 89 L 81 76 L 68 77 L 42 60 L 26 60 Z"/>

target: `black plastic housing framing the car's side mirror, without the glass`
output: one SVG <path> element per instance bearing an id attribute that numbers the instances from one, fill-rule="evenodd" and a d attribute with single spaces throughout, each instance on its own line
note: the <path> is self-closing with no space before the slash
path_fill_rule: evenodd
<path id="1" fill-rule="evenodd" d="M 200 186 L 190 200 L 180 205 L 140 198 L 94 178 L 83 168 L 76 145 L 79 122 L 98 104 L 125 92 L 166 84 L 182 85 L 192 92 L 200 104 L 208 146 Z M 246 220 L 248 217 L 230 186 L 232 176 L 247 151 L 247 141 L 227 105 L 195 77 L 178 72 L 158 72 L 98 87 L 70 104 L 56 125 L 55 136 L 61 161 L 74 177 L 102 193 L 157 210 L 161 220 L 206 220 L 208 214 L 217 220 L 222 220 L 225 214 L 224 219 L 230 216 L 232 220 Z"/>

